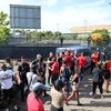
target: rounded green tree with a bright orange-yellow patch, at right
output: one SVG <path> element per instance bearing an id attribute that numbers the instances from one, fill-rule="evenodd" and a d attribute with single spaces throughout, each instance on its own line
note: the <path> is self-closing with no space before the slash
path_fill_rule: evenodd
<path id="1" fill-rule="evenodd" d="M 107 29 L 94 30 L 91 39 L 97 46 L 108 46 L 110 43 L 110 36 Z"/>

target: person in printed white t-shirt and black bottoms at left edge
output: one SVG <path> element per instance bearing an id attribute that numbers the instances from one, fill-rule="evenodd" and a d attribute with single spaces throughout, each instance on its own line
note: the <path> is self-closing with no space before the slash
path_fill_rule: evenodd
<path id="1" fill-rule="evenodd" d="M 16 92 L 13 90 L 14 72 L 7 69 L 6 64 L 1 65 L 0 84 L 3 93 L 3 102 L 6 103 L 6 111 L 9 111 L 9 101 L 13 103 L 13 111 L 19 111 L 16 101 Z"/>

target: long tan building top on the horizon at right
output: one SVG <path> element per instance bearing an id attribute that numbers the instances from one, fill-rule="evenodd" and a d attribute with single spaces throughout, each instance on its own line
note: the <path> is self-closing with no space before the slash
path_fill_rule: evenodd
<path id="1" fill-rule="evenodd" d="M 83 32 L 92 32 L 95 29 L 107 29 L 111 30 L 111 24 L 97 24 L 97 26 L 85 26 L 85 27 L 72 27 L 72 33 L 83 33 Z"/>

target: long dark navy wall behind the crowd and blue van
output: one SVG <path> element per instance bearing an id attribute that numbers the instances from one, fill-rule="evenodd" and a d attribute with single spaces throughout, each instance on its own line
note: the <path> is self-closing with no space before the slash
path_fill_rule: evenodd
<path id="1" fill-rule="evenodd" d="M 56 52 L 57 47 L 0 47 L 0 59 L 7 57 L 10 58 L 36 58 L 37 53 L 42 54 L 44 58 L 49 56 L 49 52 Z M 95 48 L 92 48 L 94 50 Z M 107 48 L 107 51 L 111 54 L 111 47 Z"/>

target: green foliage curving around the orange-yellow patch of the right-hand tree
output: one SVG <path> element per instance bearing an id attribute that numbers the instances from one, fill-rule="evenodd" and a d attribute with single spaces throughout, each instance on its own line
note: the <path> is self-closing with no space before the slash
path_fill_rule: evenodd
<path id="1" fill-rule="evenodd" d="M 101 41 L 97 42 L 97 46 L 108 46 L 110 43 L 110 36 L 107 29 L 102 30 L 94 30 L 92 33 L 100 33 L 101 34 Z"/>

